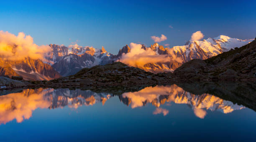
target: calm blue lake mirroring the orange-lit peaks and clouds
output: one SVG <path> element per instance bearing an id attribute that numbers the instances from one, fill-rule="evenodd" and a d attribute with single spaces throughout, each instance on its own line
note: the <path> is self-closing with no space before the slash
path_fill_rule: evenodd
<path id="1" fill-rule="evenodd" d="M 177 85 L 119 93 L 27 89 L 0 96 L 5 141 L 256 142 L 256 112 Z"/>

